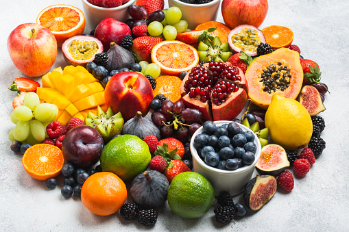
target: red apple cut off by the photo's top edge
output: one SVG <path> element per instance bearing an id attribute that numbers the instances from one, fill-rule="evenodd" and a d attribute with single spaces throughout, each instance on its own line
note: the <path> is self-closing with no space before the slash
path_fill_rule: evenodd
<path id="1" fill-rule="evenodd" d="M 267 0 L 223 0 L 221 2 L 224 23 L 230 29 L 244 24 L 259 27 L 267 12 Z"/>

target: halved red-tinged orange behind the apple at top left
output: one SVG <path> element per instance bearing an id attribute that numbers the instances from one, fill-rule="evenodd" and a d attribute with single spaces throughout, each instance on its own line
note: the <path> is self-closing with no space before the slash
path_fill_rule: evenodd
<path id="1" fill-rule="evenodd" d="M 40 12 L 36 23 L 47 27 L 56 37 L 58 47 L 62 47 L 67 38 L 84 32 L 85 16 L 71 5 L 51 5 Z"/>

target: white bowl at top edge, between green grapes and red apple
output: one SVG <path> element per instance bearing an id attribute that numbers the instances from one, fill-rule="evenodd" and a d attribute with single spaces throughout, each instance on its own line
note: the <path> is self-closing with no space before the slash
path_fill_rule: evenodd
<path id="1" fill-rule="evenodd" d="M 180 8 L 182 19 L 188 22 L 188 28 L 193 30 L 200 23 L 216 20 L 219 3 L 220 0 L 213 0 L 205 4 L 188 4 L 179 0 L 169 0 L 169 7 Z"/>

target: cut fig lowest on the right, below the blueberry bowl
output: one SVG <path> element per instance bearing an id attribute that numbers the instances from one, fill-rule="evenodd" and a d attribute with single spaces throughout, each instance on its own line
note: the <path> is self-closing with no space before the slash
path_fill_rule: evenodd
<path id="1" fill-rule="evenodd" d="M 274 196 L 276 188 L 277 182 L 275 177 L 256 175 L 256 177 L 248 181 L 243 190 L 245 205 L 253 211 L 261 209 Z"/>

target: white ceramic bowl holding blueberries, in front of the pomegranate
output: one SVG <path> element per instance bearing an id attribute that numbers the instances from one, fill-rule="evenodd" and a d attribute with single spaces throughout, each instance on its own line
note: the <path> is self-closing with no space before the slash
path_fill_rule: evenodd
<path id="1" fill-rule="evenodd" d="M 217 127 L 224 125 L 226 123 L 232 123 L 231 121 L 215 121 Z M 243 131 L 251 131 L 248 127 L 239 124 Z M 192 138 L 195 138 L 200 133 L 203 133 L 204 129 L 200 127 L 195 131 Z M 252 131 L 253 133 L 253 131 Z M 204 177 L 206 177 L 215 189 L 215 195 L 218 196 L 222 191 L 229 192 L 230 195 L 234 196 L 243 191 L 245 185 L 250 181 L 254 172 L 254 166 L 256 165 L 259 157 L 261 156 L 261 143 L 258 140 L 258 137 L 254 133 L 254 141 L 257 146 L 257 151 L 255 154 L 255 159 L 253 164 L 249 166 L 244 166 L 238 168 L 237 170 L 220 170 L 218 168 L 213 168 L 205 164 L 205 162 L 199 157 L 194 146 L 194 139 L 191 140 L 190 150 L 191 155 L 193 155 L 193 170 L 198 172 Z"/>

